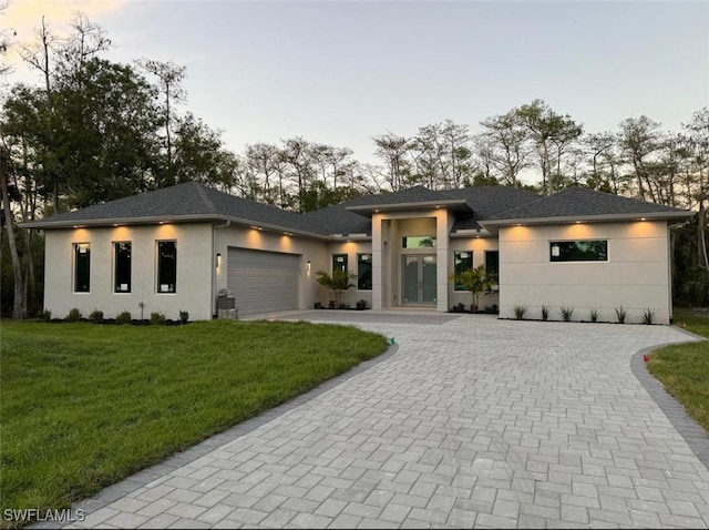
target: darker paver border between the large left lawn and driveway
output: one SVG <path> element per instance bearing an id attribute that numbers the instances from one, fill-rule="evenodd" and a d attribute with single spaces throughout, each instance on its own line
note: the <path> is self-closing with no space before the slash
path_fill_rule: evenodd
<path id="1" fill-rule="evenodd" d="M 193 462 L 198 458 L 202 458 L 203 456 L 207 455 L 214 449 L 217 449 L 218 447 L 224 446 L 225 444 L 248 435 L 253 430 L 258 429 L 260 426 L 268 424 L 269 421 L 294 410 L 295 408 L 300 407 L 301 405 L 315 399 L 316 397 L 327 393 L 328 390 L 331 390 L 338 385 L 341 385 L 342 383 L 360 375 L 361 373 L 367 371 L 370 368 L 373 368 L 374 366 L 389 360 L 398 351 L 399 345 L 395 343 L 390 344 L 389 348 L 383 354 L 378 355 L 373 359 L 364 360 L 353 368 L 349 369 L 345 374 L 340 374 L 339 376 L 321 383 L 312 390 L 300 394 L 299 396 L 289 399 L 278 407 L 266 410 L 265 412 L 254 418 L 242 421 L 240 424 L 237 424 L 223 432 L 210 436 L 209 438 L 202 440 L 189 449 L 168 457 L 161 463 L 151 466 L 150 468 L 145 468 L 142 471 L 138 471 L 121 480 L 120 482 L 106 486 L 96 496 L 80 500 L 79 502 L 73 504 L 70 509 L 70 516 L 63 523 L 58 524 L 59 521 L 43 521 L 35 522 L 28 528 L 64 528 L 68 524 L 73 524 L 78 520 L 78 511 L 81 510 L 83 512 L 94 512 L 96 510 L 105 508 L 110 503 L 134 491 L 137 491 L 138 489 L 147 486 L 162 476 L 167 475 L 182 466 Z"/>

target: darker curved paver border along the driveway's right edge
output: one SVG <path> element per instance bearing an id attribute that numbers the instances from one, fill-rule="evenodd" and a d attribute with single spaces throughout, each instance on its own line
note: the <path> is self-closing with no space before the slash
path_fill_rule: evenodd
<path id="1" fill-rule="evenodd" d="M 690 333 L 686 329 L 681 329 L 676 326 L 675 329 L 692 338 L 707 340 L 705 337 Z M 665 390 L 662 384 L 656 379 L 653 374 L 650 374 L 645 365 L 645 355 L 649 355 L 656 349 L 674 344 L 682 343 L 674 342 L 657 344 L 636 351 L 633 357 L 630 357 L 630 370 L 633 370 L 633 374 L 640 381 L 640 385 L 643 385 L 650 398 L 653 398 L 662 412 L 665 412 L 665 416 L 667 416 L 669 422 L 672 424 L 672 427 L 677 429 L 699 461 L 703 463 L 705 468 L 709 471 L 709 436 L 707 436 L 705 429 L 685 411 L 682 404 Z"/>

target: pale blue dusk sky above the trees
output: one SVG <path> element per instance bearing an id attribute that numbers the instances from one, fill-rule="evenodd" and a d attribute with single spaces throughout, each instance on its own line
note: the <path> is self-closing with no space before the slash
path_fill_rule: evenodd
<path id="1" fill-rule="evenodd" d="M 590 132 L 709 105 L 706 1 L 110 1 L 110 58 L 186 65 L 184 109 L 235 152 L 302 135 L 372 161 L 373 135 L 474 132 L 535 98 Z"/>

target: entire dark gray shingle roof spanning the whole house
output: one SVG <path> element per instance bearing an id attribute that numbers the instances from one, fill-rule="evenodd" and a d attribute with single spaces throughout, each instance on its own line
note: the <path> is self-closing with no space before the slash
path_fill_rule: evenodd
<path id="1" fill-rule="evenodd" d="M 649 216 L 671 218 L 691 212 L 645 203 L 631 198 L 574 187 L 548 197 L 503 186 L 431 191 L 415 186 L 398 193 L 366 195 L 336 206 L 297 214 L 265 204 L 236 197 L 189 182 L 131 197 L 96 204 L 42 221 L 27 227 L 52 228 L 71 225 L 106 225 L 110 223 L 155 223 L 158 221 L 226 221 L 254 224 L 314 236 L 330 234 L 371 234 L 367 211 L 358 206 L 410 205 L 441 203 L 458 211 L 453 231 L 503 225 L 525 220 L 564 217 L 629 218 Z"/>

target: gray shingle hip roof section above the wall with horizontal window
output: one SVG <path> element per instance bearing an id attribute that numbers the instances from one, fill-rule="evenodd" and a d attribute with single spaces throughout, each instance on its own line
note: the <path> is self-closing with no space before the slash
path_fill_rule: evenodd
<path id="1" fill-rule="evenodd" d="M 635 198 L 596 192 L 586 187 L 569 187 L 554 195 L 492 215 L 492 224 L 505 221 L 546 220 L 554 217 L 675 217 L 691 215 L 686 210 L 646 203 Z"/>

